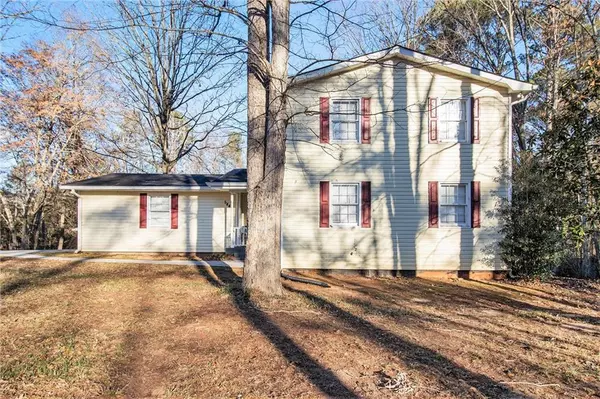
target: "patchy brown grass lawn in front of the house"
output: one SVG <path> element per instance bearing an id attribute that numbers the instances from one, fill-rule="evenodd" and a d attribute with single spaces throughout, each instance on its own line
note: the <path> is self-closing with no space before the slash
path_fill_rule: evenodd
<path id="1" fill-rule="evenodd" d="M 600 392 L 600 284 L 5 260 L 0 396 L 565 398 Z M 402 390 L 380 386 L 400 375 Z M 393 378 L 392 378 L 393 380 Z"/>

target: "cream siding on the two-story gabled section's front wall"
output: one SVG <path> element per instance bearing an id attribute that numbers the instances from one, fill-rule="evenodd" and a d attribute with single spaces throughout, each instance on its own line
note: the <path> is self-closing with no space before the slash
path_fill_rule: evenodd
<path id="1" fill-rule="evenodd" d="M 393 65 L 395 62 L 398 65 Z M 294 118 L 287 130 L 282 267 L 372 270 L 503 267 L 499 256 L 490 250 L 496 247 L 500 234 L 497 221 L 488 215 L 498 198 L 507 195 L 507 185 L 496 180 L 500 174 L 498 168 L 508 159 L 510 96 L 505 89 L 393 60 L 290 90 L 294 99 L 290 102 L 293 107 L 290 113 Z M 370 145 L 319 143 L 315 134 L 320 126 L 319 97 L 327 96 L 371 98 Z M 480 99 L 480 144 L 428 145 L 428 99 L 437 98 L 439 105 L 445 99 L 473 96 Z M 469 101 L 465 101 L 465 107 L 468 114 Z M 370 181 L 371 228 L 319 228 L 320 181 L 330 184 Z M 431 181 L 480 181 L 481 228 L 429 228 Z M 466 219 L 470 223 L 468 212 Z"/>

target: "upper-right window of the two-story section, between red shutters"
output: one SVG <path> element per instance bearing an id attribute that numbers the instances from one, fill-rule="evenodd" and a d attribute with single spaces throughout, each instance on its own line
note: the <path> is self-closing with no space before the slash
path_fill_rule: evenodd
<path id="1" fill-rule="evenodd" d="M 438 139 L 445 142 L 466 143 L 469 132 L 467 99 L 442 99 L 438 106 Z"/>

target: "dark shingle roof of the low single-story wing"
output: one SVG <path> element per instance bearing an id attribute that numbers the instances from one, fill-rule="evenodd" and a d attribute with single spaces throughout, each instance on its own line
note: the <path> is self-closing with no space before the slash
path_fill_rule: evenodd
<path id="1" fill-rule="evenodd" d="M 63 184 L 62 187 L 208 187 L 207 183 L 245 183 L 246 180 L 246 169 L 233 169 L 223 175 L 111 173 Z"/>

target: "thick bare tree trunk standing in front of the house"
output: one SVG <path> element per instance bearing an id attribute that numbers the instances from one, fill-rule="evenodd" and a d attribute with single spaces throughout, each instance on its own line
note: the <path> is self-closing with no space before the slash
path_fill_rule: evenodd
<path id="1" fill-rule="evenodd" d="M 280 295 L 289 0 L 248 2 L 248 243 L 244 289 Z"/>

